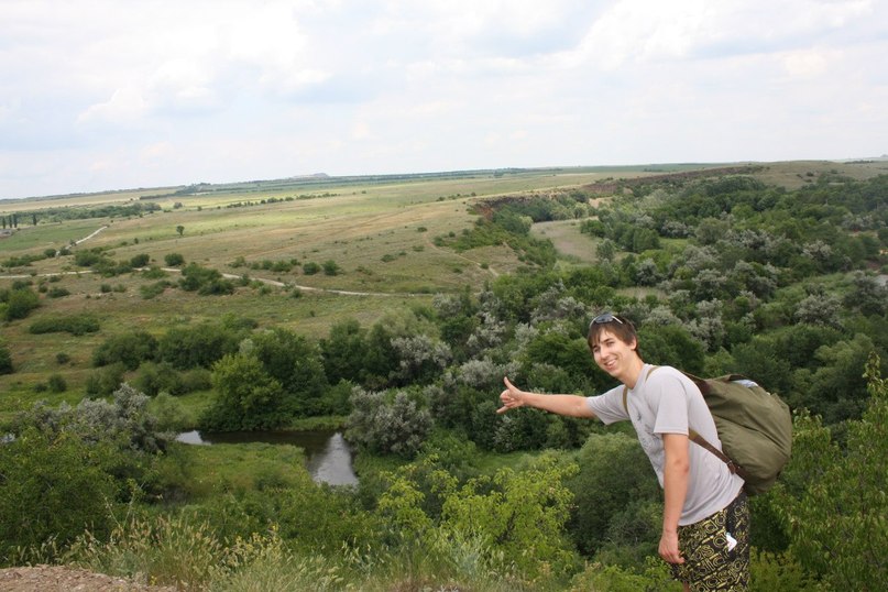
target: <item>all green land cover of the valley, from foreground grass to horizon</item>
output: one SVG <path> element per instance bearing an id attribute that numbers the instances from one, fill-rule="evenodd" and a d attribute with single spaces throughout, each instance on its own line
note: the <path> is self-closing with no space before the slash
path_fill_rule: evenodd
<path id="1" fill-rule="evenodd" d="M 90 198 L 113 217 L 80 244 L 81 210 L 17 205 L 37 223 L 0 243 L 3 561 L 187 590 L 675 590 L 631 432 L 494 413 L 503 375 L 611 387 L 584 343 L 610 308 L 646 360 L 793 406 L 754 589 L 880 590 L 888 177 L 799 166 Z M 173 440 L 320 417 L 347 418 L 360 486 L 313 483 L 292 447 Z"/>

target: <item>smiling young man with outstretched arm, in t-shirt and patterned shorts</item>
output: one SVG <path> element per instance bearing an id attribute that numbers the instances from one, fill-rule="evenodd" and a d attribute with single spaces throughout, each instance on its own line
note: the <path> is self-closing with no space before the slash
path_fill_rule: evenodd
<path id="1" fill-rule="evenodd" d="M 749 508 L 743 479 L 688 439 L 692 427 L 722 448 L 700 390 L 673 368 L 645 364 L 635 327 L 623 317 L 595 317 L 588 341 L 595 363 L 620 386 L 591 397 L 547 395 L 520 391 L 506 377 L 497 413 L 527 405 L 604 424 L 631 420 L 664 490 L 660 557 L 684 590 L 746 590 Z"/>

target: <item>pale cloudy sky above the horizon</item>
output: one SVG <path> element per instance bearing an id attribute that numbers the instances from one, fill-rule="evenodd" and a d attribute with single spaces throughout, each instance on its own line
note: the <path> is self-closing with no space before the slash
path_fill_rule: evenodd
<path id="1" fill-rule="evenodd" d="M 888 153 L 884 0 L 0 0 L 0 198 Z"/>

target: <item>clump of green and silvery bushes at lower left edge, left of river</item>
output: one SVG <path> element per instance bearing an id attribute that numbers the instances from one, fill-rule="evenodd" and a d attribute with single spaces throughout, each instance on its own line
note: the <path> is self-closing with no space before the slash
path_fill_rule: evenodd
<path id="1" fill-rule="evenodd" d="M 113 403 L 35 405 L 15 418 L 14 439 L 0 445 L 0 553 L 85 529 L 105 536 L 113 511 L 153 480 L 154 452 L 166 446 L 146 412 L 147 397 L 129 386 Z"/>

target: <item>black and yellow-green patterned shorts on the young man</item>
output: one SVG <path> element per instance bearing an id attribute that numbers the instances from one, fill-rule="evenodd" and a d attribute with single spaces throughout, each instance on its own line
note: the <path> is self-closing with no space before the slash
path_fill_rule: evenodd
<path id="1" fill-rule="evenodd" d="M 731 539 L 736 545 L 728 549 Z M 746 590 L 749 583 L 749 504 L 741 494 L 708 518 L 678 527 L 684 563 L 670 563 L 672 575 L 694 592 Z"/>

